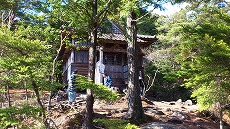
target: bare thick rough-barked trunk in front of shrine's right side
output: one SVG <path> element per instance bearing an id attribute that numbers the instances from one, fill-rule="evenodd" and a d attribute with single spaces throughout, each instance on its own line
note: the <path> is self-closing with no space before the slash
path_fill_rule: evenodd
<path id="1" fill-rule="evenodd" d="M 137 26 L 136 14 L 131 11 L 127 17 L 128 33 L 128 112 L 126 118 L 136 122 L 143 120 L 144 112 L 142 109 L 140 86 L 138 85 L 138 67 L 137 67 Z"/>

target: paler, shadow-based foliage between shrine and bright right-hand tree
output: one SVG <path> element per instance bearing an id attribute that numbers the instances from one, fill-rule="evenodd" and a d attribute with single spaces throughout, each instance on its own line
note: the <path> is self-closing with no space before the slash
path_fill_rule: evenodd
<path id="1" fill-rule="evenodd" d="M 149 95 L 159 100 L 172 101 L 190 98 L 190 91 L 181 87 L 185 71 L 178 71 L 181 67 L 176 59 L 179 54 L 176 47 L 183 41 L 182 29 L 184 24 L 188 24 L 185 17 L 185 11 L 175 14 L 168 18 L 161 16 L 157 19 L 155 25 L 158 27 L 159 40 L 154 42 L 148 51 L 148 61 L 145 62 L 145 84 L 148 84 L 148 77 L 155 78 L 154 84 Z"/>

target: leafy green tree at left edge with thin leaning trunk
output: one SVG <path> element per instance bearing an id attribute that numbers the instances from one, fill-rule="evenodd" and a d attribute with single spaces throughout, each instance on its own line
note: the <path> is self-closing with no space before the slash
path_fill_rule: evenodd
<path id="1" fill-rule="evenodd" d="M 52 45 L 49 41 L 55 42 L 52 38 L 55 31 L 50 27 L 39 26 L 44 25 L 44 21 L 34 17 L 33 13 L 36 13 L 41 5 L 39 1 L 6 1 L 4 5 L 0 6 L 0 47 L 4 48 L 0 63 L 1 69 L 11 74 L 6 74 L 3 79 L 12 76 L 11 84 L 19 84 L 25 80 L 28 82 L 42 109 L 43 122 L 48 127 L 39 90 L 50 90 L 53 87 L 49 85 L 52 57 L 52 49 L 49 47 Z"/>

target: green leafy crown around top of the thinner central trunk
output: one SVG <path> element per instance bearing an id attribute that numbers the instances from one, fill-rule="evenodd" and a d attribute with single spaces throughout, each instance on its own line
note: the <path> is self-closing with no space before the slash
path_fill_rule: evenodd
<path id="1" fill-rule="evenodd" d="M 49 6 L 52 8 L 49 13 L 46 13 L 47 17 L 49 17 L 48 22 L 58 28 L 66 26 L 67 30 L 75 30 L 74 33 L 71 33 L 75 38 L 88 38 L 93 28 L 92 21 L 96 20 L 98 24 L 101 24 L 101 21 L 104 21 L 108 15 L 111 18 L 115 16 L 119 12 L 120 0 L 98 1 L 97 17 L 92 17 L 93 7 L 91 2 L 90 0 L 49 0 Z M 97 27 L 99 26 L 97 25 Z"/>

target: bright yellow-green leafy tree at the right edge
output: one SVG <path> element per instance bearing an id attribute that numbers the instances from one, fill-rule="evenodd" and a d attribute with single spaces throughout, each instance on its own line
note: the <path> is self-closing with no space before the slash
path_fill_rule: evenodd
<path id="1" fill-rule="evenodd" d="M 193 89 L 192 97 L 204 110 L 216 102 L 230 102 L 230 15 L 208 6 L 196 11 L 193 24 L 183 26 L 177 60 L 186 74 L 184 86 Z"/>

